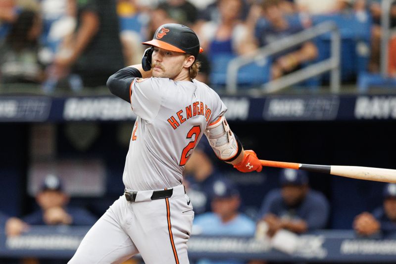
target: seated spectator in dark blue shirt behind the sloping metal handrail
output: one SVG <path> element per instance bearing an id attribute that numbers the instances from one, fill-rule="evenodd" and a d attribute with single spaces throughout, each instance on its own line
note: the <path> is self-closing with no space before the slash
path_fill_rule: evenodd
<path id="1" fill-rule="evenodd" d="M 266 0 L 261 5 L 264 16 L 258 18 L 255 26 L 255 36 L 261 47 L 293 35 L 303 30 L 304 26 L 309 25 L 307 21 L 301 20 L 300 17 L 287 17 L 279 3 L 280 0 Z M 297 48 L 278 53 L 273 58 L 272 79 L 296 70 L 304 63 L 314 60 L 317 56 L 317 47 L 312 42 L 305 42 Z"/>

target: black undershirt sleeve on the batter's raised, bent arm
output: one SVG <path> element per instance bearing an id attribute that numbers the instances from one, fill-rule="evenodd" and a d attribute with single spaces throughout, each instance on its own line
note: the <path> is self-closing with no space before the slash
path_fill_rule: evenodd
<path id="1" fill-rule="evenodd" d="M 125 67 L 111 75 L 106 85 L 113 95 L 131 103 L 129 89 L 135 78 L 142 78 L 142 73 L 137 68 Z"/>

